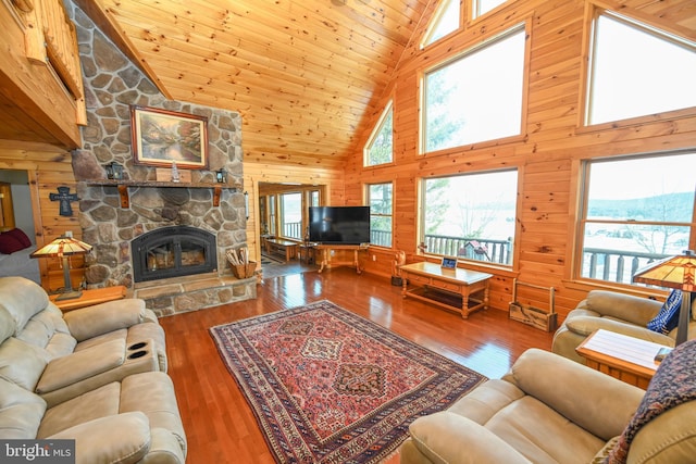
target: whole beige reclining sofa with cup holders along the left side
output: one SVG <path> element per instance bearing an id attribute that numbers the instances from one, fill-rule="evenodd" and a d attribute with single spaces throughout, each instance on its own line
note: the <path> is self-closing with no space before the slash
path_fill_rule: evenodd
<path id="1" fill-rule="evenodd" d="M 162 327 L 141 300 L 63 314 L 0 278 L 0 438 L 75 439 L 77 462 L 184 463 Z"/>

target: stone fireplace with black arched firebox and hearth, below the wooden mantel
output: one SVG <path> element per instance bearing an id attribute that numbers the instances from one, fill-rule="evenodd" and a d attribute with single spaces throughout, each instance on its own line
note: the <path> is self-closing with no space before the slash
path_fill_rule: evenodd
<path id="1" fill-rule="evenodd" d="M 136 184 L 128 208 L 115 186 L 78 185 L 83 240 L 94 246 L 89 288 L 124 285 L 159 316 L 256 298 L 257 279 L 236 279 L 226 261 L 228 249 L 246 246 L 243 193 L 223 189 L 215 206 L 213 187 Z"/>

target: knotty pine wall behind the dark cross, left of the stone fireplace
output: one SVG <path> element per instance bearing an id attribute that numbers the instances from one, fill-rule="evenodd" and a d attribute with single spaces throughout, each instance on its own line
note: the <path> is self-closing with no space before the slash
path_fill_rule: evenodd
<path id="1" fill-rule="evenodd" d="M 65 149 L 44 143 L 0 140 L 0 168 L 26 171 L 29 177 L 32 209 L 37 247 L 49 243 L 55 237 L 71 230 L 75 238 L 82 238 L 79 205 L 72 203 L 73 215 L 61 216 L 60 204 L 51 201 L 50 193 L 58 193 L 58 187 L 70 187 L 76 192 L 76 181 L 71 164 L 71 154 Z M 58 290 L 64 286 L 63 271 L 58 258 L 37 259 L 41 271 L 41 285 L 47 290 Z M 73 286 L 83 279 L 83 259 L 71 259 Z"/>

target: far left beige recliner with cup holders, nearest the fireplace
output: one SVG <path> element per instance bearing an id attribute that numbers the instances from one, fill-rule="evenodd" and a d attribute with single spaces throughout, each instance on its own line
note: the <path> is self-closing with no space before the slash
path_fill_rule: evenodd
<path id="1" fill-rule="evenodd" d="M 138 299 L 63 314 L 23 277 L 0 278 L 0 376 L 64 402 L 130 374 L 165 371 L 164 330 Z"/>

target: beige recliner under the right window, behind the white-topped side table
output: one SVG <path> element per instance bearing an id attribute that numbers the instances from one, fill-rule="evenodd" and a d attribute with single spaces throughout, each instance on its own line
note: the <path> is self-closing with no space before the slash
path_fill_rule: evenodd
<path id="1" fill-rule="evenodd" d="M 676 329 L 669 334 L 658 334 L 647 328 L 648 322 L 657 315 L 660 308 L 661 301 L 614 291 L 592 290 L 586 299 L 568 313 L 563 324 L 556 330 L 551 351 L 584 364 L 585 359 L 577 354 L 575 348 L 600 328 L 674 347 Z M 688 334 L 689 338 L 696 337 L 696 323 L 693 317 Z"/>

